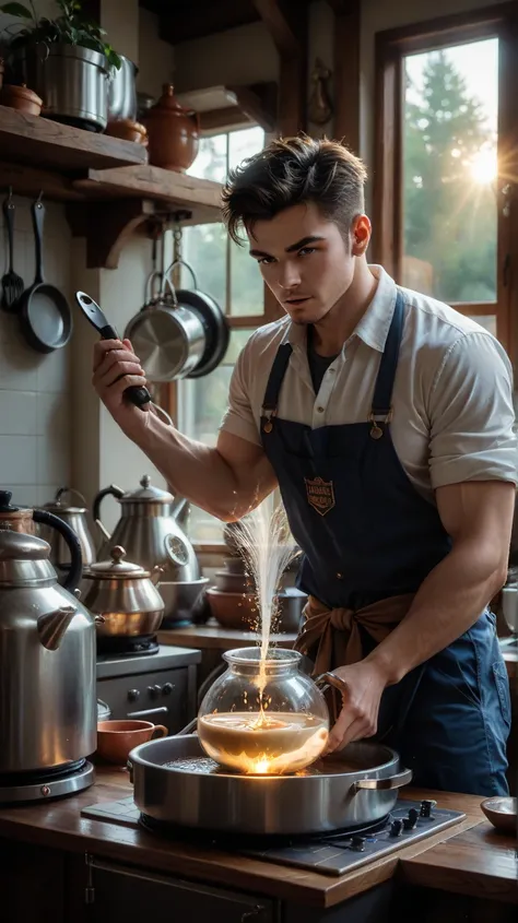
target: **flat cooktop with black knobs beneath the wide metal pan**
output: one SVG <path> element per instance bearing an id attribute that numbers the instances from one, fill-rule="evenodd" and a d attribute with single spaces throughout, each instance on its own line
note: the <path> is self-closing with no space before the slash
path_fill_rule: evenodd
<path id="1" fill-rule="evenodd" d="M 155 836 L 210 845 L 224 852 L 248 855 L 281 865 L 292 865 L 323 875 L 344 875 L 375 862 L 464 819 L 460 810 L 438 807 L 435 802 L 398 802 L 393 810 L 379 824 L 368 828 L 342 830 L 316 837 L 243 837 L 232 833 L 211 833 L 192 828 L 178 828 L 141 815 L 133 798 L 106 802 L 85 807 L 84 817 L 105 820 L 137 829 L 139 826 Z"/>

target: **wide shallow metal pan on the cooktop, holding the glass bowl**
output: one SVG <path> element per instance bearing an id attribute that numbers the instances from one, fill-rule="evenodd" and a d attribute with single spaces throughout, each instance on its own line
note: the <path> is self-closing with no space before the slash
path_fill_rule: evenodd
<path id="1" fill-rule="evenodd" d="M 183 768 L 167 764 L 181 759 Z M 381 820 L 412 772 L 381 744 L 350 744 L 299 776 L 189 769 L 207 756 L 196 735 L 165 737 L 130 754 L 134 802 L 154 820 L 210 831 L 323 833 Z M 195 762 L 195 766 L 197 764 Z"/>

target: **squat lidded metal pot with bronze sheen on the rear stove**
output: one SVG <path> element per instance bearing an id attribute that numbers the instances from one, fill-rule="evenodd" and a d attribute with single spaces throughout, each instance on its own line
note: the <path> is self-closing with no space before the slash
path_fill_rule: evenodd
<path id="1" fill-rule="evenodd" d="M 151 571 L 126 560 L 120 545 L 111 549 L 109 560 L 91 565 L 83 572 L 84 605 L 103 617 L 97 634 L 153 635 L 164 616 L 164 602 L 154 582 L 161 572 L 160 567 Z"/>

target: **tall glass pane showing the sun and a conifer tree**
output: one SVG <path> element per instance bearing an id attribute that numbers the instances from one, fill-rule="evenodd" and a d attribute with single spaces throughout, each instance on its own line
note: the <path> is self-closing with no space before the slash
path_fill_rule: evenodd
<path id="1" fill-rule="evenodd" d="M 402 283 L 495 301 L 498 39 L 404 66 Z"/>

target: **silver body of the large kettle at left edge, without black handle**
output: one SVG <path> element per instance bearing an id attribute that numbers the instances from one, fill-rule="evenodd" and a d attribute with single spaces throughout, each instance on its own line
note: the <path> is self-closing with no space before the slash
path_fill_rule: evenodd
<path id="1" fill-rule="evenodd" d="M 0 530 L 0 774 L 66 769 L 96 748 L 95 622 L 49 552 Z"/>

